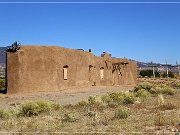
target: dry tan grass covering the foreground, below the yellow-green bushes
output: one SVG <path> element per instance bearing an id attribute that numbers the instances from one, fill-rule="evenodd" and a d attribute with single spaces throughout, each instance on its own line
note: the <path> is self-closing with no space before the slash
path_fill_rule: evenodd
<path id="1" fill-rule="evenodd" d="M 0 120 L 0 131 L 42 132 L 42 134 L 45 132 L 179 132 L 180 90 L 176 90 L 174 95 L 163 95 L 163 104 L 158 104 L 157 95 L 141 92 L 139 95 L 144 96 L 145 99 L 138 100 L 138 96 L 133 96 L 133 103 L 130 104 L 113 102 L 109 96 L 103 96 L 103 102 L 99 101 L 101 99 L 99 97 L 98 99 L 90 97 L 89 101 L 87 99 L 31 117 L 17 117 L 16 113 L 12 113 L 10 117 Z M 119 100 L 117 95 L 114 94 L 113 98 Z M 130 99 L 128 96 L 128 103 Z M 43 110 L 46 110 L 46 105 L 42 106 Z"/>

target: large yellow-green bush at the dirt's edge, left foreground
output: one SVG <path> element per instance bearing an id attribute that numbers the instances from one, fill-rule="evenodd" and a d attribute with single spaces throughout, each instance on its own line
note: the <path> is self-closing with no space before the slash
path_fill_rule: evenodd
<path id="1" fill-rule="evenodd" d="M 59 108 L 59 104 L 48 101 L 27 101 L 20 106 L 18 115 L 27 117 L 37 116 L 40 113 L 57 110 Z"/>

